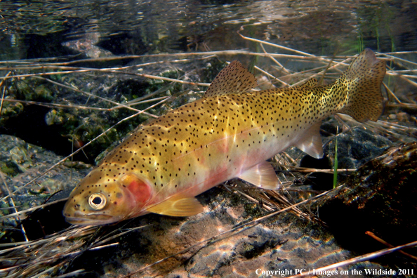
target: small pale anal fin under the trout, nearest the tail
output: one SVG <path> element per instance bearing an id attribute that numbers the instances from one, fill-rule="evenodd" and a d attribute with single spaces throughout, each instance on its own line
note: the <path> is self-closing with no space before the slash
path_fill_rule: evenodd
<path id="1" fill-rule="evenodd" d="M 320 126 L 322 121 L 311 126 L 298 140 L 294 146 L 303 152 L 310 154 L 312 157 L 320 159 L 323 157 L 323 143 L 322 136 L 320 136 Z"/>

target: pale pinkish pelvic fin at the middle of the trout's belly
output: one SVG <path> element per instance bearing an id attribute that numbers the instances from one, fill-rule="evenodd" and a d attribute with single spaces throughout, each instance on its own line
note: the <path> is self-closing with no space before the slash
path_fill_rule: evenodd
<path id="1" fill-rule="evenodd" d="M 267 161 L 256 164 L 252 168 L 244 171 L 239 178 L 268 190 L 277 190 L 281 186 L 274 168 L 272 168 L 272 165 Z"/>

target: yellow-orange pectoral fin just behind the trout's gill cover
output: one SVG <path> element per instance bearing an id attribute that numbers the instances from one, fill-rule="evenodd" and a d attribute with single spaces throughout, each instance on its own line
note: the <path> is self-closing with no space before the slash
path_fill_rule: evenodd
<path id="1" fill-rule="evenodd" d="M 146 210 L 165 216 L 194 216 L 203 211 L 203 206 L 194 197 L 174 196 Z"/>

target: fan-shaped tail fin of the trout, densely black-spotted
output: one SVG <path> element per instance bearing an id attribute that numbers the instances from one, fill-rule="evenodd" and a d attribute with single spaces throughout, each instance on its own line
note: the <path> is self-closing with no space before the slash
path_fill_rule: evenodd
<path id="1" fill-rule="evenodd" d="M 340 112 L 357 121 L 376 121 L 383 112 L 380 85 L 384 76 L 385 61 L 366 48 L 338 79 L 348 89 L 347 103 Z"/>

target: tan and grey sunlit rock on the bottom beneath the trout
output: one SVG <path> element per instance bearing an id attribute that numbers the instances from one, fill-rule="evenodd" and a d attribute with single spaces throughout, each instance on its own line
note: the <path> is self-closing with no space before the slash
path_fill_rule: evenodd
<path id="1" fill-rule="evenodd" d="M 218 187 L 198 199 L 206 209 L 197 216 L 173 218 L 152 214 L 119 224 L 123 228 L 145 227 L 119 238 L 119 246 L 107 251 L 107 255 L 94 252 L 81 256 L 67 271 L 83 268 L 95 272 L 96 277 L 134 273 L 136 277 L 174 278 L 265 277 L 261 275 L 265 270 L 289 277 L 296 270 L 317 269 L 362 254 L 340 246 L 326 227 L 291 213 L 232 230 L 253 219 L 246 209 L 253 204 L 251 201 Z M 114 227 L 102 227 L 98 234 L 110 229 Z M 223 232 L 226 233 L 216 237 Z M 399 261 L 402 258 L 391 256 L 384 265 L 363 262 L 339 267 L 338 271 L 381 270 L 397 267 Z"/>

